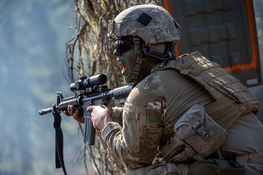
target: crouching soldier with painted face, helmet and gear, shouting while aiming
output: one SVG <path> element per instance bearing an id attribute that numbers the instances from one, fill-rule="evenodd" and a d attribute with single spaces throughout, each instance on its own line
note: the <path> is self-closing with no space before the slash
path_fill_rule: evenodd
<path id="1" fill-rule="evenodd" d="M 257 99 L 200 53 L 176 57 L 179 28 L 164 8 L 152 4 L 130 7 L 110 21 L 108 37 L 115 41 L 124 81 L 138 85 L 123 108 L 89 107 L 94 128 L 129 169 L 125 174 L 186 175 L 189 167 L 190 174 L 206 174 L 196 167 L 214 160 L 215 152 L 216 160 L 234 157 L 240 163 L 228 169 L 262 174 Z M 73 106 L 65 113 L 84 122 Z M 113 117 L 122 117 L 123 126 Z M 194 163 L 191 170 L 194 160 L 198 166 Z"/>

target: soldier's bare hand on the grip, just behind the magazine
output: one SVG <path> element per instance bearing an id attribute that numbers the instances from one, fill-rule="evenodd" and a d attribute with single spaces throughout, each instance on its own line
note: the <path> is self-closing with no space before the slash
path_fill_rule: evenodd
<path id="1" fill-rule="evenodd" d="M 111 119 L 113 108 L 111 106 L 90 106 L 87 108 L 87 111 L 92 111 L 91 120 L 93 127 L 98 131 L 102 131 L 107 123 L 113 122 Z"/>

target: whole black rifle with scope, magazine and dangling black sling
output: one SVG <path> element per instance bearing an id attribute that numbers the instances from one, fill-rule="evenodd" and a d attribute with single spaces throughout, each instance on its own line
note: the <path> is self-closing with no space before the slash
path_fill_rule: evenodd
<path id="1" fill-rule="evenodd" d="M 95 105 L 107 105 L 110 103 L 112 98 L 120 99 L 120 104 L 124 104 L 126 100 L 125 97 L 128 97 L 131 90 L 136 86 L 137 83 L 123 86 L 120 88 L 115 88 L 113 90 L 109 89 L 105 83 L 107 83 L 108 78 L 104 74 L 99 74 L 92 77 L 79 77 L 79 80 L 75 83 L 70 84 L 69 88 L 71 91 L 78 91 L 79 94 L 76 96 L 63 98 L 61 92 L 57 92 L 57 106 L 53 104 L 53 107 L 42 109 L 39 111 L 40 115 L 47 114 L 52 112 L 54 115 L 54 128 L 55 128 L 55 142 L 56 142 L 56 151 L 55 151 L 55 161 L 56 168 L 63 169 L 65 175 L 66 169 L 64 165 L 63 158 L 63 133 L 60 128 L 61 123 L 61 111 L 66 111 L 68 105 L 74 106 L 75 109 L 84 109 L 83 117 L 85 118 L 85 129 L 84 129 L 84 139 L 83 142 L 88 145 L 94 145 L 96 130 L 93 127 L 91 120 L 91 112 L 86 109 L 89 106 Z"/>

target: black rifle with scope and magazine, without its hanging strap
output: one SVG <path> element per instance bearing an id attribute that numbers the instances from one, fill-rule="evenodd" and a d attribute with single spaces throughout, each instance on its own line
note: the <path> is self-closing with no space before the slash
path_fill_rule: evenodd
<path id="1" fill-rule="evenodd" d="M 131 90 L 137 84 L 134 83 L 128 86 L 123 86 L 111 90 L 108 88 L 107 85 L 105 85 L 107 81 L 108 78 L 104 74 L 99 74 L 89 78 L 79 77 L 78 81 L 70 84 L 70 90 L 78 91 L 78 95 L 63 98 L 61 92 L 57 92 L 57 106 L 55 106 L 57 111 L 66 111 L 68 109 L 68 105 L 74 106 L 75 109 L 83 109 L 83 116 L 85 118 L 83 142 L 88 145 L 94 145 L 96 130 L 93 127 L 93 123 L 91 120 L 91 112 L 88 112 L 86 109 L 89 106 L 96 106 L 101 104 L 107 105 L 110 103 L 111 98 L 120 99 L 128 97 Z M 125 99 L 120 100 L 120 103 L 125 103 Z M 47 114 L 49 112 L 52 112 L 53 110 L 53 107 L 42 109 L 39 111 L 39 114 Z"/>

